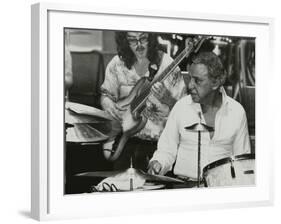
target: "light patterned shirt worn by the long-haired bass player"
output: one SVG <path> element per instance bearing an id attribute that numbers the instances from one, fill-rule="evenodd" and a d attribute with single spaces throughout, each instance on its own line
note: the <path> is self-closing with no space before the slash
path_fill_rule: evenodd
<path id="1" fill-rule="evenodd" d="M 163 54 L 155 78 L 172 62 L 173 59 L 169 55 Z M 148 77 L 149 72 L 147 71 L 144 76 Z M 141 77 L 137 74 L 135 68 L 132 66 L 131 69 L 128 69 L 125 63 L 116 55 L 106 68 L 105 80 L 101 86 L 101 92 L 114 102 L 118 102 L 118 100 L 129 95 L 139 79 Z M 185 84 L 178 67 L 163 83 L 176 100 L 184 95 Z M 148 121 L 145 127 L 135 136 L 145 140 L 158 140 L 164 129 L 169 112 L 169 107 L 166 104 L 162 104 L 151 94 L 146 101 L 146 109 L 143 112 L 148 118 Z"/>

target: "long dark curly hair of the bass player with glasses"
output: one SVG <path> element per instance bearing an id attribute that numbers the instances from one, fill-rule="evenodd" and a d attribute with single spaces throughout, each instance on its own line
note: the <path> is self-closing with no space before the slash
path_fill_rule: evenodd
<path id="1" fill-rule="evenodd" d="M 118 31 L 115 33 L 115 41 L 117 44 L 118 56 L 122 61 L 124 61 L 126 67 L 131 69 L 133 64 L 136 62 L 137 58 L 130 48 L 129 42 L 127 40 L 127 33 L 124 31 Z M 159 54 L 159 42 L 157 40 L 157 35 L 154 33 L 148 33 L 148 50 L 147 58 L 151 64 L 159 65 L 161 56 Z"/>

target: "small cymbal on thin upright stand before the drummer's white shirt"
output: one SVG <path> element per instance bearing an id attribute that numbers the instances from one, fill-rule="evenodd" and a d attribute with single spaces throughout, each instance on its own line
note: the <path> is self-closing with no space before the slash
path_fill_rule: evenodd
<path id="1" fill-rule="evenodd" d="M 198 155 L 197 155 L 197 187 L 200 187 L 201 176 L 201 132 L 213 132 L 214 128 L 203 124 L 201 112 L 198 112 L 199 123 L 185 127 L 186 130 L 198 132 Z"/>

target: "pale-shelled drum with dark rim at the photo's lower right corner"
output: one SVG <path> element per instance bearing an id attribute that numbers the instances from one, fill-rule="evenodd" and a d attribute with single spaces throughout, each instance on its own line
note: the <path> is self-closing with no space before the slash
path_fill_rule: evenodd
<path id="1" fill-rule="evenodd" d="M 210 163 L 203 169 L 206 187 L 255 184 L 255 155 L 243 154 Z"/>

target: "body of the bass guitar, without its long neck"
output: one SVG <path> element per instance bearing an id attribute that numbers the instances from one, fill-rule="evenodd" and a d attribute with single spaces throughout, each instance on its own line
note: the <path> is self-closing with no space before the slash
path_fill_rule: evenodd
<path id="1" fill-rule="evenodd" d="M 110 161 L 116 160 L 128 139 L 142 130 L 147 122 L 147 118 L 141 116 L 141 111 L 144 107 L 139 108 L 136 112 L 132 113 L 131 103 L 136 97 L 138 97 L 145 86 L 149 84 L 149 81 L 146 78 L 141 78 L 134 88 L 131 90 L 130 94 L 118 101 L 118 106 L 126 109 L 122 113 L 122 121 L 113 121 L 112 122 L 112 131 L 110 135 L 110 144 L 109 146 L 104 145 L 104 156 Z"/>

